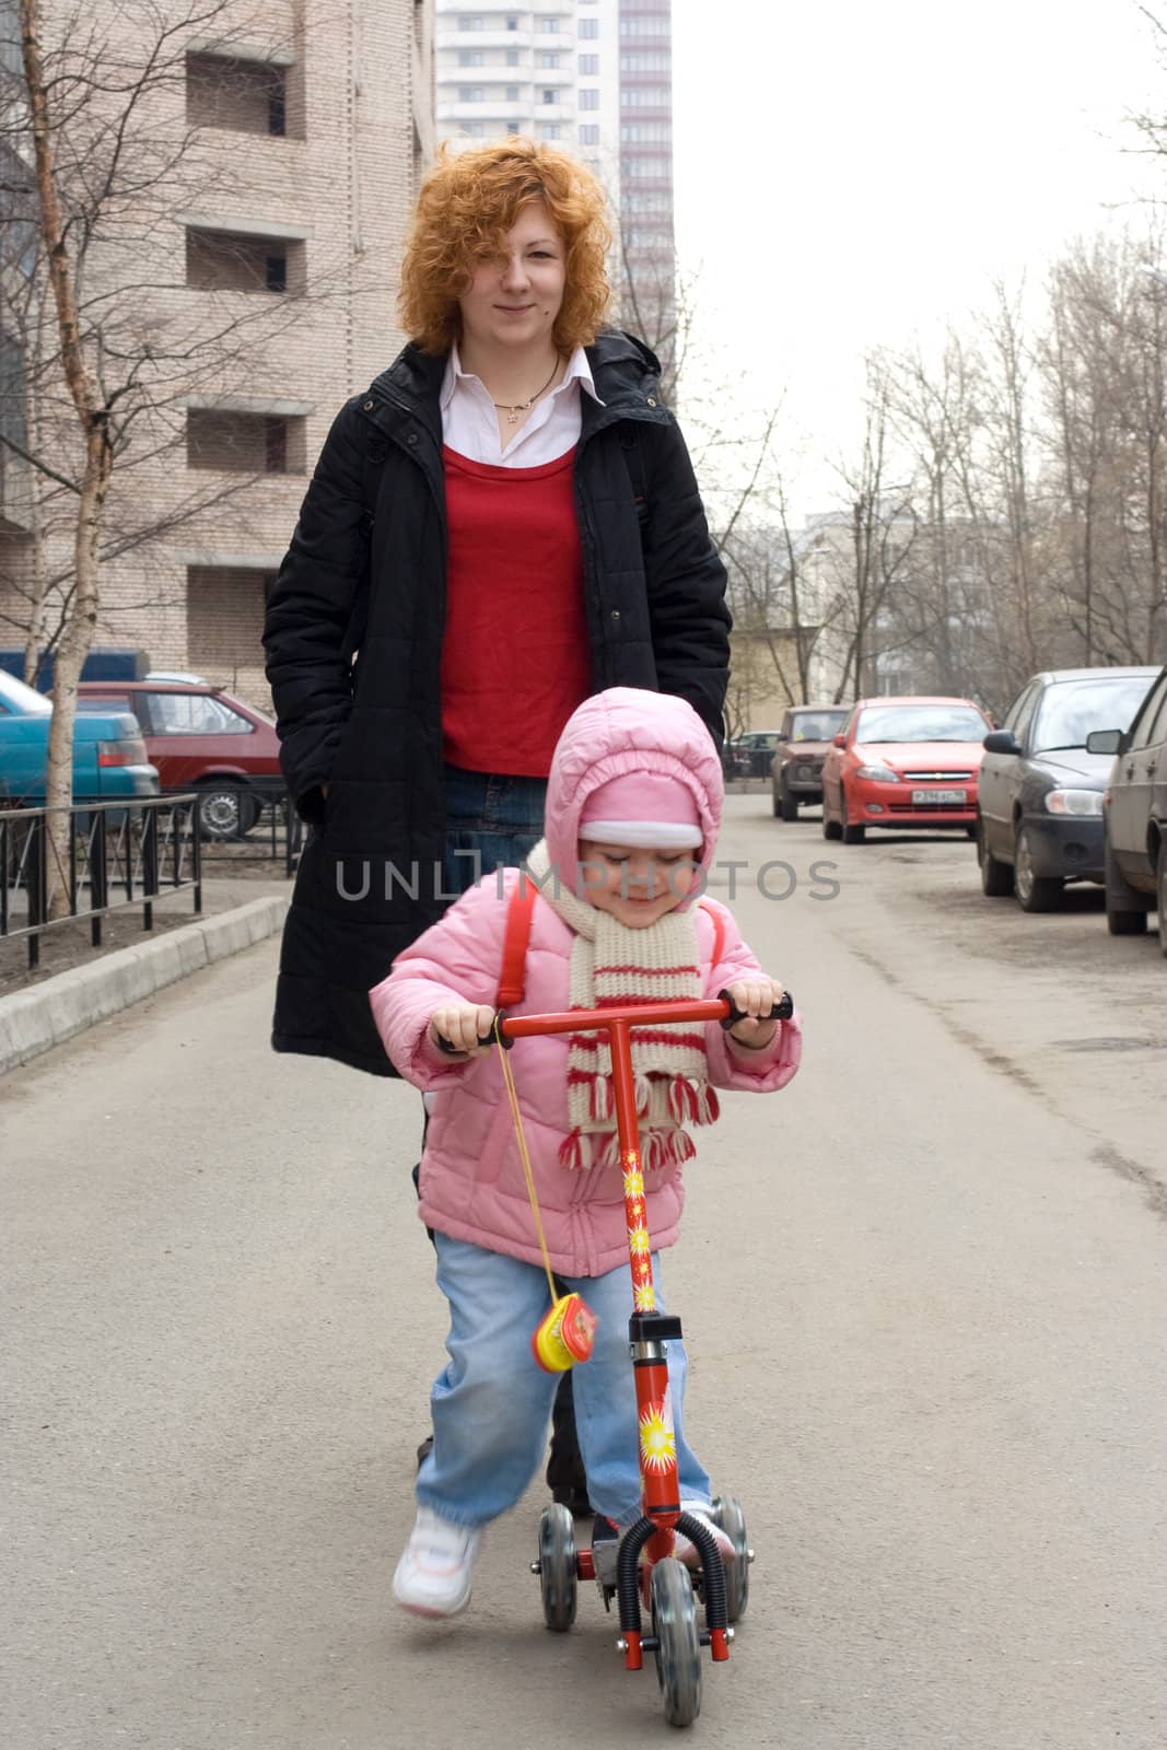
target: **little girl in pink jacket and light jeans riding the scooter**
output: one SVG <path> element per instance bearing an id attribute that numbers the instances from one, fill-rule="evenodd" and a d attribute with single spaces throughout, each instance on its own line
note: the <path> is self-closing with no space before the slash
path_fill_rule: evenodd
<path id="1" fill-rule="evenodd" d="M 696 901 L 721 822 L 721 761 L 681 698 L 611 688 L 569 719 L 551 763 L 544 840 L 527 861 L 539 884 L 518 1013 L 612 1001 L 696 999 L 726 989 L 749 1018 L 633 1029 L 647 1228 L 677 1239 L 684 1122 L 717 1116 L 714 1087 L 768 1094 L 798 1068 L 798 1020 L 770 1020 L 782 987 L 742 942 L 731 914 Z M 418 1516 L 394 1596 L 420 1615 L 471 1598 L 481 1528 L 513 1507 L 539 1465 L 556 1376 L 530 1337 L 548 1281 L 514 1141 L 497 1046 L 483 1048 L 520 870 L 486 873 L 371 992 L 394 1064 L 430 1097 L 420 1216 L 434 1228 L 450 1300 L 450 1363 L 432 1393 L 434 1449 L 416 1480 Z M 714 943 L 721 948 L 714 964 Z M 443 1055 L 444 1040 L 458 1055 Z M 591 1505 L 612 1526 L 640 1517 L 637 1400 L 628 1362 L 632 1272 L 611 1097 L 598 1034 L 520 1040 L 513 1055 L 551 1267 L 598 1318 L 574 1374 Z M 653 1256 L 660 1295 L 660 1264 Z M 684 1346 L 668 1344 L 681 1503 L 709 1522 L 709 1475 L 684 1438 Z M 714 1530 L 719 1549 L 730 1540 Z M 677 1554 L 695 1559 L 677 1536 Z"/>

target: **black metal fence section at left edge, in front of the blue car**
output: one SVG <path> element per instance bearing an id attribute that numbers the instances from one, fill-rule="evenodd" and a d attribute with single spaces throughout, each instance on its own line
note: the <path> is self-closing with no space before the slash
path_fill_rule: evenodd
<path id="1" fill-rule="evenodd" d="M 0 938 L 24 936 L 30 968 L 47 929 L 89 919 L 94 947 L 110 912 L 187 889 L 203 910 L 198 794 L 135 796 L 72 808 L 0 812 Z"/>

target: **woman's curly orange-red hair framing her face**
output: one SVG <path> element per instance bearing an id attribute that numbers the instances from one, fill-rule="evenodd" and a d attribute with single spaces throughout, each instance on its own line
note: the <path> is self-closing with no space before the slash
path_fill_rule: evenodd
<path id="1" fill-rule="evenodd" d="M 607 312 L 612 233 L 604 189 L 581 163 L 551 145 L 513 136 L 464 152 L 439 149 L 422 184 L 401 268 L 401 326 L 423 352 L 458 338 L 462 298 L 474 268 L 502 250 L 523 206 L 544 201 L 563 238 L 563 304 L 553 340 L 560 352 L 588 346 Z"/>

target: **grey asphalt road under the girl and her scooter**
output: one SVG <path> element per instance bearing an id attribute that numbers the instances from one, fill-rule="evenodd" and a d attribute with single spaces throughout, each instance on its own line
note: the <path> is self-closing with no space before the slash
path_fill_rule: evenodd
<path id="1" fill-rule="evenodd" d="M 723 856 L 807 1057 L 726 1099 L 668 1260 L 758 1549 L 693 1741 L 1162 1750 L 1167 962 L 1097 894 L 983 900 L 966 840 L 828 845 L 745 794 Z M 271 1057 L 273 968 L 0 1082 L 0 1743 L 675 1741 L 591 1589 L 541 1628 L 539 1488 L 465 1617 L 394 1610 L 443 1339 L 420 1102 Z"/>

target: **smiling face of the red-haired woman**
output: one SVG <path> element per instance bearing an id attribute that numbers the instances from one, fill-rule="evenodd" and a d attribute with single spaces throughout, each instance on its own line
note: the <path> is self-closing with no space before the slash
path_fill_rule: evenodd
<path id="1" fill-rule="evenodd" d="M 563 240 L 542 201 L 532 201 L 506 234 L 506 250 L 479 261 L 458 299 L 462 334 L 478 350 L 544 352 L 563 303 Z"/>

